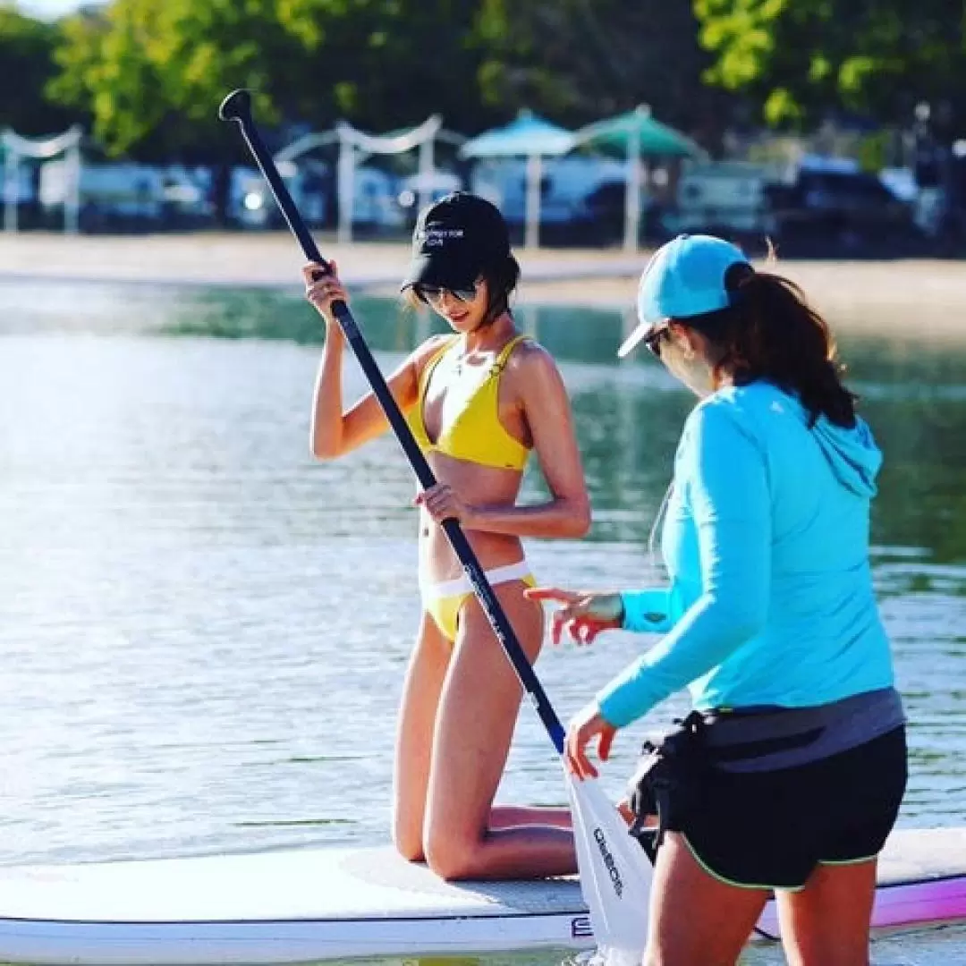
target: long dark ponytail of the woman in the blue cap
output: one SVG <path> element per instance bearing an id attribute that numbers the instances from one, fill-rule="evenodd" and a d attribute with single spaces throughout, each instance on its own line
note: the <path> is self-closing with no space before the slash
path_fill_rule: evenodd
<path id="1" fill-rule="evenodd" d="M 835 339 L 802 290 L 742 263 L 727 271 L 725 288 L 732 294 L 728 308 L 674 320 L 708 340 L 716 380 L 725 371 L 735 385 L 764 379 L 799 398 L 810 426 L 823 415 L 854 426 L 858 397 L 842 384 Z"/>

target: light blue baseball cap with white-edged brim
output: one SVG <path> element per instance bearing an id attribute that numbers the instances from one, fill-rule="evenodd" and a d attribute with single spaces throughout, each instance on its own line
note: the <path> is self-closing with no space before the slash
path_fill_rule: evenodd
<path id="1" fill-rule="evenodd" d="M 713 235 L 678 235 L 647 263 L 638 287 L 638 327 L 617 350 L 624 356 L 666 319 L 687 319 L 731 304 L 725 275 L 732 265 L 750 265 L 745 253 Z"/>

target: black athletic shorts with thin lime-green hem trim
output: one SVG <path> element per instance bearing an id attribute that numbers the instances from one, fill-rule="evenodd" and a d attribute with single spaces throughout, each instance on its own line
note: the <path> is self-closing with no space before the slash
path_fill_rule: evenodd
<path id="1" fill-rule="evenodd" d="M 748 888 L 801 889 L 818 865 L 876 856 L 906 786 L 905 727 L 820 761 L 771 772 L 704 771 L 690 813 L 666 828 L 710 874 Z"/>

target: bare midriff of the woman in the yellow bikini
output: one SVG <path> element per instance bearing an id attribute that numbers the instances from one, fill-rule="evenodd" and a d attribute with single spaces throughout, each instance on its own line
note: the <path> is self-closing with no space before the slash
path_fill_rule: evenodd
<path id="1" fill-rule="evenodd" d="M 516 503 L 524 475 L 519 470 L 484 467 L 441 453 L 426 455 L 439 482 L 448 483 L 470 506 L 510 507 Z M 520 537 L 467 527 L 464 532 L 484 570 L 523 559 Z M 419 573 L 433 583 L 455 580 L 464 573 L 442 527 L 424 510 L 419 514 Z"/>

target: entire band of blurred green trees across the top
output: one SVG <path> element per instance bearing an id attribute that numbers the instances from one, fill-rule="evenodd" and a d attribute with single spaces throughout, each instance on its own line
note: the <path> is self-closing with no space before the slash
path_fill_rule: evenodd
<path id="1" fill-rule="evenodd" d="M 647 102 L 706 144 L 736 102 L 787 128 L 966 111 L 963 0 L 108 0 L 57 24 L 3 3 L 0 124 L 79 113 L 116 155 L 226 160 L 215 110 L 241 86 L 264 122 L 317 129 L 440 112 L 473 133 L 524 106 L 576 127 Z"/>

